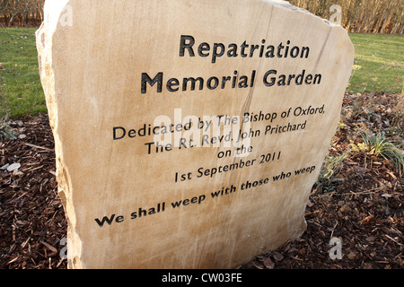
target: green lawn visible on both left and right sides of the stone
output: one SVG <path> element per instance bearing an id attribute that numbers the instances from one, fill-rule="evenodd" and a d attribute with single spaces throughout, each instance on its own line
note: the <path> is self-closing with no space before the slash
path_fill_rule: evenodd
<path id="1" fill-rule="evenodd" d="M 11 117 L 46 112 L 35 47 L 36 29 L 0 29 L 1 86 L 8 95 Z M 403 89 L 404 37 L 350 34 L 356 48 L 350 93 Z M 4 115 L 1 113 L 0 117 Z"/>

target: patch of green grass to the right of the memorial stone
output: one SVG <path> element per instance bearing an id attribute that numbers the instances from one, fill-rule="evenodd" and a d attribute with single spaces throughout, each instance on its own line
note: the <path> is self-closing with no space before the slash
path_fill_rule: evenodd
<path id="1" fill-rule="evenodd" d="M 355 46 L 356 69 L 349 92 L 394 92 L 403 90 L 404 37 L 349 34 Z"/>

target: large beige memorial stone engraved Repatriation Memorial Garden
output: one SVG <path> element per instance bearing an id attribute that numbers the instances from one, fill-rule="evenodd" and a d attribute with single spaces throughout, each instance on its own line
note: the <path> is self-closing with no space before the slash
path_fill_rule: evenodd
<path id="1" fill-rule="evenodd" d="M 353 65 L 285 1 L 46 1 L 70 268 L 231 268 L 296 239 Z"/>

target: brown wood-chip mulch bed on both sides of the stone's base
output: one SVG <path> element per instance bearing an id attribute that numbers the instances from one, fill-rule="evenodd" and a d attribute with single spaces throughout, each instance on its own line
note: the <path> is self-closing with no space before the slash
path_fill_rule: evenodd
<path id="1" fill-rule="evenodd" d="M 402 101 L 397 94 L 347 94 L 329 157 L 360 143 L 364 129 L 385 132 L 402 152 Z M 13 119 L 9 126 L 17 139 L 0 135 L 0 268 L 66 269 L 66 218 L 48 115 Z M 13 170 L 14 163 L 21 167 Z M 240 269 L 404 267 L 404 180 L 397 166 L 359 151 L 332 172 L 312 188 L 303 236 Z"/>

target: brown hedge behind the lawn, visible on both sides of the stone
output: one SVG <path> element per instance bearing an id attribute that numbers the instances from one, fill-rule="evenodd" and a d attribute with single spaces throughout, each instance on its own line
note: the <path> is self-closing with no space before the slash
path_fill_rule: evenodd
<path id="1" fill-rule="evenodd" d="M 0 0 L 0 25 L 5 27 L 39 26 L 45 0 Z M 342 8 L 342 26 L 349 32 L 402 35 L 402 0 L 290 0 L 321 18 L 329 19 L 332 4 Z"/>

